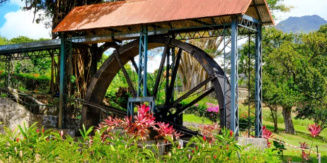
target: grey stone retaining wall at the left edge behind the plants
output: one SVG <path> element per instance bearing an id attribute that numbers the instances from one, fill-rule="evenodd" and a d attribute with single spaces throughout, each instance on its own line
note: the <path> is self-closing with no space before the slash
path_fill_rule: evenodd
<path id="1" fill-rule="evenodd" d="M 44 109 L 51 110 L 51 108 Z M 3 126 L 14 129 L 19 124 L 20 126 L 26 123 L 27 127 L 30 127 L 35 122 L 38 122 L 36 127 L 41 128 L 57 128 L 58 116 L 53 115 L 34 115 L 28 111 L 25 107 L 17 104 L 8 98 L 0 98 L 0 133 L 4 133 Z"/>

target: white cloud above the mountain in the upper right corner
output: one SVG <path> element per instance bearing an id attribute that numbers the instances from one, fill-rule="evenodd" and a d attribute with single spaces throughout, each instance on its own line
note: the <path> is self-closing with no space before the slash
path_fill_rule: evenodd
<path id="1" fill-rule="evenodd" d="M 284 4 L 294 6 L 289 13 L 274 13 L 279 20 L 285 20 L 290 16 L 300 17 L 306 15 L 318 15 L 327 20 L 327 1 L 325 0 L 284 0 Z M 280 21 L 277 21 L 280 22 Z"/>

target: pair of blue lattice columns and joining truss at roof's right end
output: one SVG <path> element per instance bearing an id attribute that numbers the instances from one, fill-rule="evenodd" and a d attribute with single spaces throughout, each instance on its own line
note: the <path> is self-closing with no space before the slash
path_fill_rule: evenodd
<path id="1" fill-rule="evenodd" d="M 239 29 L 242 28 L 242 29 Z M 229 101 L 225 100 L 224 104 L 224 117 L 225 121 L 223 126 L 230 126 L 230 129 L 235 133 L 236 136 L 240 133 L 239 128 L 239 107 L 238 107 L 238 92 L 239 92 L 239 74 L 238 74 L 238 35 L 256 35 L 255 47 L 255 137 L 262 137 L 262 56 L 261 56 L 261 41 L 262 41 L 262 31 L 261 22 L 247 15 L 242 16 L 232 16 L 230 26 L 224 26 L 223 29 L 223 39 L 224 47 L 229 47 L 228 42 L 226 42 L 225 37 L 230 36 L 230 65 L 227 64 L 227 57 L 224 48 L 224 72 L 225 80 L 230 78 L 230 115 L 226 114 L 226 104 Z M 244 32 L 247 30 L 246 32 Z M 251 31 L 251 32 L 250 32 Z M 230 32 L 230 35 L 226 35 L 226 32 Z M 250 38 L 249 38 L 250 39 Z M 250 40 L 249 40 L 250 41 Z M 250 64 L 250 63 L 249 63 Z M 230 76 L 226 76 L 226 68 L 230 66 Z M 229 91 L 224 85 L 224 92 Z M 226 94 L 224 95 L 224 97 Z M 248 117 L 250 118 L 250 116 Z M 228 122 L 228 119 L 230 121 Z M 249 124 L 250 125 L 250 122 Z"/>

